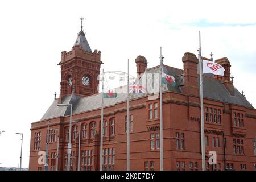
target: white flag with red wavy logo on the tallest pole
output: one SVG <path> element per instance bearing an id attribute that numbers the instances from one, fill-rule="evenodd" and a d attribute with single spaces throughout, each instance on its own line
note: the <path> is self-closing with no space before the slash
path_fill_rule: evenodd
<path id="1" fill-rule="evenodd" d="M 203 60 L 203 73 L 213 73 L 214 75 L 224 75 L 225 69 L 217 63 Z"/>

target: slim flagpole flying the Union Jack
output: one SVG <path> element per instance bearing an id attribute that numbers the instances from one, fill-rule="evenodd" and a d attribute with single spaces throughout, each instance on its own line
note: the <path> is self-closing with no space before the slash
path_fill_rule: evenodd
<path id="1" fill-rule="evenodd" d="M 130 171 L 130 94 L 129 94 L 129 59 L 127 63 L 128 76 L 127 76 L 127 171 Z"/>

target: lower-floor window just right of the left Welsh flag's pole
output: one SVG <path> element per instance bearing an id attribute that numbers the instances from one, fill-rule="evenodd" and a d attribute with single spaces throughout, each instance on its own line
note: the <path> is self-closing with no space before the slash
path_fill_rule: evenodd
<path id="1" fill-rule="evenodd" d="M 105 148 L 103 152 L 104 158 L 104 165 L 103 168 L 105 171 L 112 171 L 114 170 L 114 163 L 115 163 L 115 150 L 114 148 Z"/>

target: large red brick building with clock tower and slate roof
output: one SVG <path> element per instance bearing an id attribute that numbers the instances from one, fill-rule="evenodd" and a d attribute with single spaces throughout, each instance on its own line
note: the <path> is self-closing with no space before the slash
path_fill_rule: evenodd
<path id="1" fill-rule="evenodd" d="M 197 57 L 186 52 L 184 70 L 164 65 L 164 72 L 175 77 L 176 86 L 163 90 L 163 163 L 164 170 L 201 170 L 200 97 Z M 256 110 L 238 92 L 230 78 L 227 57 L 215 60 L 225 68 L 224 76 L 205 74 L 205 155 L 208 170 L 254 170 L 256 163 Z M 144 73 L 146 59 L 135 60 L 137 73 Z M 101 52 L 91 51 L 81 28 L 75 45 L 61 52 L 61 89 L 42 119 L 31 125 L 30 170 L 43 170 L 38 163 L 39 151 L 46 151 L 47 123 L 59 129 L 59 170 L 67 169 L 69 107 L 73 105 L 73 121 L 81 122 L 80 170 L 100 169 L 101 94 L 97 92 L 97 76 Z M 148 68 L 158 73 L 159 66 Z M 148 77 L 152 81 L 152 78 Z M 73 90 L 73 92 L 72 92 Z M 148 100 L 137 94 L 130 100 L 130 169 L 159 170 L 159 99 Z M 126 170 L 125 94 L 104 101 L 104 169 Z M 71 169 L 77 170 L 79 124 L 72 123 Z M 49 133 L 49 170 L 56 167 L 57 132 Z M 217 152 L 217 164 L 208 164 L 209 151 Z"/>

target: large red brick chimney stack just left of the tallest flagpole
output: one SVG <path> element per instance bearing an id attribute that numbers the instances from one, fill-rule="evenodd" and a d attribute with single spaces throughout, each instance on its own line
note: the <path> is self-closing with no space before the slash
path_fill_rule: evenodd
<path id="1" fill-rule="evenodd" d="M 182 57 L 182 61 L 184 67 L 184 86 L 182 86 L 182 91 L 185 94 L 199 96 L 197 87 L 198 59 L 193 53 L 186 52 Z"/>

